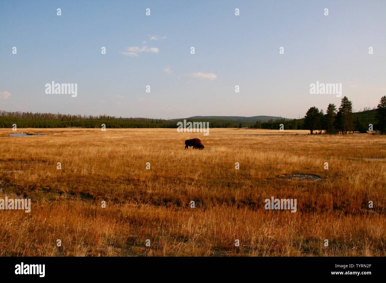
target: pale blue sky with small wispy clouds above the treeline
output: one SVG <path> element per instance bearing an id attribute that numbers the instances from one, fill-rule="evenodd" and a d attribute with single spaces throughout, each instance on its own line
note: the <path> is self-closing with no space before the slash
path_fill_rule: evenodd
<path id="1" fill-rule="evenodd" d="M 356 111 L 386 95 L 386 1 L 0 0 L 1 110 L 298 118 L 339 106 L 317 81 Z"/>

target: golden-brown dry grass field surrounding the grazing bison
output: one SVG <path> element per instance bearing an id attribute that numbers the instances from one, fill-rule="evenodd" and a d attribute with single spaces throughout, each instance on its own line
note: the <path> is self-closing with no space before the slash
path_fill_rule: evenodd
<path id="1" fill-rule="evenodd" d="M 386 256 L 384 136 L 17 132 L 47 134 L 0 129 L 0 198 L 31 199 L 30 213 L 0 210 L 0 256 Z M 204 150 L 184 149 L 193 137 Z M 297 199 L 296 213 L 264 209 L 271 196 Z"/>

